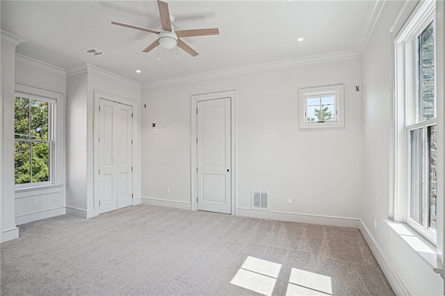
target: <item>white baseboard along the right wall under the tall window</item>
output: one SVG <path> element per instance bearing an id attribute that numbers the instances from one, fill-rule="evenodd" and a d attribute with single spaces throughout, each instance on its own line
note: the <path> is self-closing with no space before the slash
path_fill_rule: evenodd
<path id="1" fill-rule="evenodd" d="M 362 232 L 364 239 L 368 243 L 371 252 L 373 252 L 375 260 L 377 260 L 380 269 L 382 270 L 383 274 L 385 274 L 389 285 L 391 285 L 391 288 L 394 290 L 394 293 L 396 293 L 396 295 L 398 296 L 410 295 L 410 293 L 408 293 L 407 291 L 407 288 L 405 287 L 405 285 L 403 285 L 401 279 L 398 277 L 394 268 L 391 268 L 391 265 L 389 264 L 385 256 L 382 254 L 382 252 L 380 252 L 380 247 L 378 247 L 371 232 L 369 232 L 368 228 L 364 225 L 362 220 L 359 221 L 359 229 Z"/>

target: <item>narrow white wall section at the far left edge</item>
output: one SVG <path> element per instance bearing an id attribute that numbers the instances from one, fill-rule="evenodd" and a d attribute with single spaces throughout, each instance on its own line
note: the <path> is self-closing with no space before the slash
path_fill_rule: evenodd
<path id="1" fill-rule="evenodd" d="M 2 242 L 19 237 L 19 230 L 15 224 L 14 150 L 4 149 L 4 147 L 14 146 L 15 47 L 17 44 L 19 44 L 19 40 L 1 33 L 1 65 L 3 67 L 1 145 L 3 145 L 3 155 L 1 155 L 0 240 Z"/>

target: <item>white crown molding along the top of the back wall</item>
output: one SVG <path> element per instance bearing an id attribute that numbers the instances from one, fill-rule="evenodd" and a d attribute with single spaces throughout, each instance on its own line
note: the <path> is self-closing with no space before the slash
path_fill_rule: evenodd
<path id="1" fill-rule="evenodd" d="M 348 60 L 352 58 L 359 58 L 356 51 L 340 51 L 332 54 L 323 54 L 318 56 L 307 56 L 305 58 L 294 58 L 291 60 L 279 60 L 277 62 L 262 63 L 256 65 L 249 65 L 245 67 L 236 67 L 231 69 L 224 69 L 220 71 L 204 72 L 199 74 L 192 74 L 187 76 L 179 76 L 172 79 L 163 79 L 159 81 L 150 81 L 143 83 L 145 88 L 159 88 L 162 86 L 175 85 L 180 83 L 188 83 L 209 79 L 218 79 L 227 76 L 236 76 L 242 74 L 250 74 L 254 72 L 265 72 L 275 69 L 284 69 L 291 67 L 299 67 L 302 65 L 312 65 L 318 63 L 327 63 L 335 60 Z"/>

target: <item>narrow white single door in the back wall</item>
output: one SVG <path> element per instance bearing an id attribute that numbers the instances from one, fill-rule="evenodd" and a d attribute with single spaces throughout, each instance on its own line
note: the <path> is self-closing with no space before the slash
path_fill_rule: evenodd
<path id="1" fill-rule="evenodd" d="M 197 102 L 197 209 L 232 213 L 230 98 Z"/>

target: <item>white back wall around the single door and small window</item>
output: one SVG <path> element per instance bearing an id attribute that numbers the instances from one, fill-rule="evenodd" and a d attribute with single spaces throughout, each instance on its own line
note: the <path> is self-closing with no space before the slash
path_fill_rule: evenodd
<path id="1" fill-rule="evenodd" d="M 339 83 L 345 85 L 345 127 L 300 131 L 298 88 Z M 351 59 L 159 88 L 143 86 L 145 202 L 191 202 L 191 95 L 237 90 L 238 214 L 264 217 L 264 212 L 250 210 L 250 192 L 267 190 L 271 211 L 266 217 L 287 220 L 289 216 L 279 214 L 302 213 L 357 218 L 362 183 L 362 103 L 360 92 L 355 92 L 359 84 L 359 59 Z M 152 122 L 159 134 L 152 133 Z"/>

